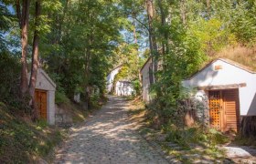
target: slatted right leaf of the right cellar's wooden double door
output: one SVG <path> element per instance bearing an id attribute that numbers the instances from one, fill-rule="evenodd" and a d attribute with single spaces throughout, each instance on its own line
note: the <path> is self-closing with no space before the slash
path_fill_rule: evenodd
<path id="1" fill-rule="evenodd" d="M 240 104 L 238 89 L 223 90 L 224 131 L 238 131 Z"/>

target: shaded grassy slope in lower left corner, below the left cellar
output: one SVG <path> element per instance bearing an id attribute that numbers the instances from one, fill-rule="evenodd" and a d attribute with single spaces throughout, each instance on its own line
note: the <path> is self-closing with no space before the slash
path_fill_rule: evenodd
<path id="1" fill-rule="evenodd" d="M 37 162 L 59 144 L 64 134 L 45 121 L 35 124 L 16 117 L 0 104 L 0 163 Z"/>

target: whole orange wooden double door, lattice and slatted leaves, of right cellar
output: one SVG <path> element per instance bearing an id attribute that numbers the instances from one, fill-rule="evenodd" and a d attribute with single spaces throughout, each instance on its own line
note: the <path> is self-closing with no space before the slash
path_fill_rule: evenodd
<path id="1" fill-rule="evenodd" d="M 240 125 L 239 90 L 213 90 L 208 92 L 209 121 L 222 132 L 237 132 Z"/>

